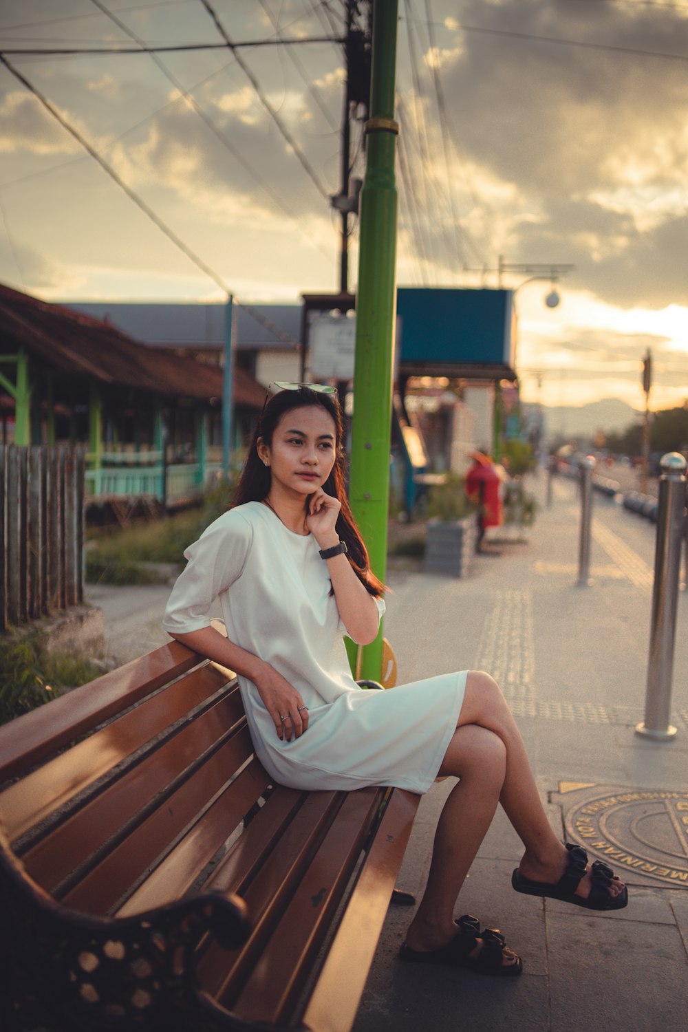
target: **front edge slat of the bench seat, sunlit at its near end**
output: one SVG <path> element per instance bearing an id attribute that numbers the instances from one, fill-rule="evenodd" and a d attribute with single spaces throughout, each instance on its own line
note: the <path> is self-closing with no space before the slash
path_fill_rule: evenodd
<path id="1" fill-rule="evenodd" d="M 315 985 L 303 1024 L 318 1032 L 349 1032 L 356 1019 L 387 906 L 421 801 L 395 788 L 365 865 Z M 341 977 L 346 970 L 347 977 Z"/>

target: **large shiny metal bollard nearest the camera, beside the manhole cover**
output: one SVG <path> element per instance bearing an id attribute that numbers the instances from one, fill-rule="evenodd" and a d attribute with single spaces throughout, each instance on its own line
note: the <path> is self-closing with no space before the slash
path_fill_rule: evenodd
<path id="1" fill-rule="evenodd" d="M 674 641 L 686 501 L 686 460 L 679 452 L 669 452 L 662 457 L 660 466 L 663 472 L 659 478 L 645 720 L 637 724 L 635 733 L 657 742 L 666 742 L 676 735 L 676 728 L 668 720 L 671 714 Z"/>

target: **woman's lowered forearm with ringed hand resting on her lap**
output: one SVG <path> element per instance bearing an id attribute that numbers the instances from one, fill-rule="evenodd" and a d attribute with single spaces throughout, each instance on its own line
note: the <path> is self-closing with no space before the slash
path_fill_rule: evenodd
<path id="1" fill-rule="evenodd" d="M 176 632 L 169 634 L 194 652 L 199 652 L 253 681 L 272 717 L 277 738 L 284 738 L 285 734 L 288 738 L 292 736 L 299 738 L 308 727 L 307 709 L 299 709 L 303 707 L 300 694 L 269 663 L 230 642 L 215 627 L 202 627 L 200 631 L 189 631 L 186 634 Z M 283 716 L 289 719 L 282 720 Z"/>

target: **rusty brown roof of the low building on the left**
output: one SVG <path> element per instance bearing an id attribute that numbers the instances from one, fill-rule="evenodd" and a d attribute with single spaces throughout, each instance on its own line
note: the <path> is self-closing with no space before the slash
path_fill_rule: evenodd
<path id="1" fill-rule="evenodd" d="M 152 349 L 117 327 L 0 285 L 0 352 L 20 348 L 46 368 L 175 398 L 222 396 L 222 370 Z M 234 370 L 234 402 L 260 408 L 265 389 Z"/>

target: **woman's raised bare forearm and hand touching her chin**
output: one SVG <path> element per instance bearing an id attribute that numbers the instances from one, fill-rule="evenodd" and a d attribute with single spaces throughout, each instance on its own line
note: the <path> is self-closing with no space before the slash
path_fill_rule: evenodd
<path id="1" fill-rule="evenodd" d="M 335 529 L 340 505 L 337 498 L 319 489 L 308 499 L 306 525 L 321 550 L 339 544 Z M 343 553 L 325 559 L 332 581 L 341 622 L 357 645 L 369 645 L 378 637 L 380 614 L 372 595 L 352 570 Z"/>

